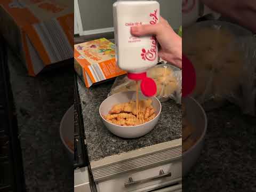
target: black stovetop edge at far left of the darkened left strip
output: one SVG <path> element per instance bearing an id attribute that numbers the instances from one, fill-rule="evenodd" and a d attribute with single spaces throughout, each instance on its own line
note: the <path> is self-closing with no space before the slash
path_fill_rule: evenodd
<path id="1" fill-rule="evenodd" d="M 0 36 L 0 191 L 25 191 L 6 45 Z"/>

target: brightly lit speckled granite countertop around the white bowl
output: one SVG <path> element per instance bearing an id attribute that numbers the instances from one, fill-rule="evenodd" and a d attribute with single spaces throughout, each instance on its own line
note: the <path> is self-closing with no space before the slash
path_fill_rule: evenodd
<path id="1" fill-rule="evenodd" d="M 78 78 L 89 161 L 181 138 L 181 108 L 173 100 L 162 103 L 162 114 L 155 128 L 143 137 L 123 139 L 112 134 L 102 123 L 99 107 L 107 98 L 114 81 L 87 89 Z"/>

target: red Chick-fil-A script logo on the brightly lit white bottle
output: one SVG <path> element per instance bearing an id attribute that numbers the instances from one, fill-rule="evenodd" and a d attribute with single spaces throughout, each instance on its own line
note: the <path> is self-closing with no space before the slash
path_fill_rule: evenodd
<path id="1" fill-rule="evenodd" d="M 158 21 L 157 10 L 155 10 L 154 13 L 150 13 L 149 16 L 152 18 L 152 20 L 149 23 L 151 25 L 155 25 Z M 146 50 L 143 48 L 141 50 L 142 51 L 141 58 L 143 60 L 154 61 L 156 59 L 157 42 L 154 36 L 152 36 L 150 40 L 151 40 L 151 48 L 149 50 Z"/>

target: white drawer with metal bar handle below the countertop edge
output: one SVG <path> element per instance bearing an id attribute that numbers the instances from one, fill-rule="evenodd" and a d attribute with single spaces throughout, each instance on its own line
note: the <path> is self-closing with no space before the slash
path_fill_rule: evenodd
<path id="1" fill-rule="evenodd" d="M 108 180 L 99 181 L 97 189 L 98 192 L 147 192 L 157 189 L 161 191 L 163 187 L 171 186 L 171 191 L 178 191 L 181 189 L 181 180 L 182 162 L 179 159 L 169 164 L 119 174 Z"/>

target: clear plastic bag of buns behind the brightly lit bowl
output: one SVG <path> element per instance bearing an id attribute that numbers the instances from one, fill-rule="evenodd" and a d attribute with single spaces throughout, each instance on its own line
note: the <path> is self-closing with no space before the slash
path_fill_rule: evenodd
<path id="1" fill-rule="evenodd" d="M 182 73 L 180 69 L 164 63 L 149 69 L 147 76 L 153 78 L 156 82 L 156 97 L 161 102 L 171 98 L 177 103 L 181 103 Z M 126 75 L 117 77 L 108 97 L 122 91 L 136 91 L 136 82 L 127 78 Z"/>

